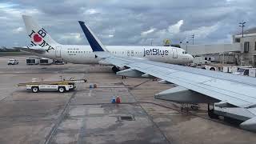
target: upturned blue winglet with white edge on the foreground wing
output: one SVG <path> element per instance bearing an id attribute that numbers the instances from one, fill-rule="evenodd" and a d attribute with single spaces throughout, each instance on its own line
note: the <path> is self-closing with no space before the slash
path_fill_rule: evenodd
<path id="1" fill-rule="evenodd" d="M 95 34 L 90 30 L 88 26 L 86 26 L 85 22 L 78 21 L 83 33 L 86 35 L 88 42 L 90 43 L 90 47 L 93 51 L 107 51 L 105 47 L 102 45 L 102 42 L 95 36 Z"/>

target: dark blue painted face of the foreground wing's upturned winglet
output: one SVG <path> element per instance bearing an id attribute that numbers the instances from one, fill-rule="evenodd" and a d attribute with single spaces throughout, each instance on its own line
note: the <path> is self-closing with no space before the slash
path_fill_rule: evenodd
<path id="1" fill-rule="evenodd" d="M 93 51 L 104 51 L 102 49 L 102 46 L 97 42 L 97 40 L 94 38 L 93 34 L 90 33 L 90 30 L 86 27 L 85 22 L 78 21 L 80 26 L 82 27 L 83 33 L 86 35 L 86 38 L 88 42 L 90 43 L 90 47 L 93 49 Z"/>

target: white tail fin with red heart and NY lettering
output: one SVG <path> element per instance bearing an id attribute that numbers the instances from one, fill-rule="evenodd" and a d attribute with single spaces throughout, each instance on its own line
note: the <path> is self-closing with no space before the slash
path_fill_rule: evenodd
<path id="1" fill-rule="evenodd" d="M 44 49 L 50 50 L 54 49 L 52 46 L 59 45 L 42 26 L 38 25 L 38 22 L 36 22 L 34 18 L 28 15 L 22 15 L 22 18 L 26 26 L 27 34 L 30 37 L 31 46 L 41 46 Z"/>

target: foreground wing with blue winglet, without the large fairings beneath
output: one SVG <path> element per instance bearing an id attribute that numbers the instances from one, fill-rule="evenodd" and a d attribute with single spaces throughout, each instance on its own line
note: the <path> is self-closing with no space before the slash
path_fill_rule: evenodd
<path id="1" fill-rule="evenodd" d="M 206 97 L 218 99 L 233 106 L 256 106 L 256 79 L 217 71 L 201 70 L 187 66 L 152 62 L 138 58 L 120 58 L 105 50 L 102 43 L 84 22 L 79 22 L 94 53 L 115 66 L 127 66 L 130 70 L 150 74 L 168 82 L 193 90 Z M 126 70 L 127 71 L 127 70 Z M 121 71 L 122 72 L 122 71 Z"/>

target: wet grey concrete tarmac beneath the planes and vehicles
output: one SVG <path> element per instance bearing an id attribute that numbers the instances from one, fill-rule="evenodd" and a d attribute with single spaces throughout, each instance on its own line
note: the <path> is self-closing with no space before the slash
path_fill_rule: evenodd
<path id="1" fill-rule="evenodd" d="M 154 99 L 170 89 L 147 78 L 126 78 L 110 66 L 7 66 L 0 57 L 0 143 L 255 143 L 255 133 L 207 119 L 206 107 L 180 113 L 179 105 Z M 31 93 L 19 82 L 32 78 L 87 78 L 77 90 Z M 90 89 L 90 84 L 98 88 Z M 121 104 L 111 104 L 120 96 Z"/>

